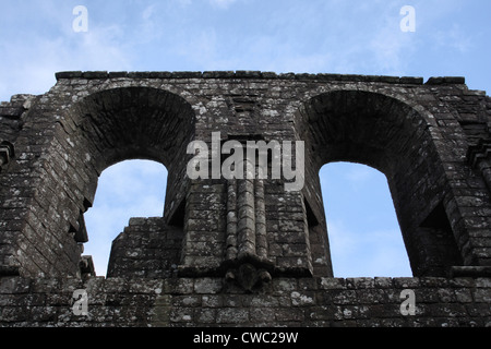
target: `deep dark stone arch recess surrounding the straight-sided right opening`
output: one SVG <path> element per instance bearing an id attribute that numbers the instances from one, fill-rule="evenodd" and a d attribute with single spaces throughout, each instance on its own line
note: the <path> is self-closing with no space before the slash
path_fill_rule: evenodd
<path id="1" fill-rule="evenodd" d="M 434 143 L 438 131 L 421 111 L 368 91 L 332 91 L 310 98 L 297 115 L 304 127 L 299 132 L 306 141 L 304 197 L 311 215 L 322 221 L 315 191 L 323 165 L 350 161 L 380 170 L 387 177 L 412 273 L 442 276 L 462 265 L 463 256 L 447 215 L 452 191 Z M 311 241 L 321 240 L 322 230 L 311 231 Z"/>

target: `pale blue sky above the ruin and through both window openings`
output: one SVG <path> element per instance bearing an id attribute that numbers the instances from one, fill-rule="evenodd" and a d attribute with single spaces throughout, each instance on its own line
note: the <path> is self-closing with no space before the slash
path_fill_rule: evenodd
<path id="1" fill-rule="evenodd" d="M 86 33 L 73 31 L 76 5 L 88 10 Z M 414 33 L 400 31 L 404 5 L 416 10 Z M 489 0 L 0 0 L 0 100 L 43 94 L 65 70 L 458 75 L 472 89 L 491 84 Z M 86 215 L 85 253 L 99 275 L 129 217 L 161 215 L 165 168 L 131 164 L 103 173 Z M 335 275 L 410 275 L 384 176 L 349 164 L 320 174 Z"/>

